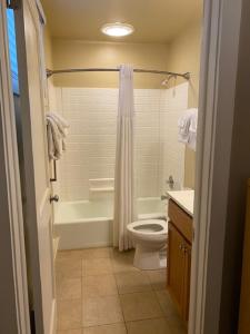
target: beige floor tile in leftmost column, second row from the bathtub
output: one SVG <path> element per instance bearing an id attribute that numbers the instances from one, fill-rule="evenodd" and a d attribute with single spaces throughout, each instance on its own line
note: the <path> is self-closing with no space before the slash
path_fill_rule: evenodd
<path id="1" fill-rule="evenodd" d="M 81 277 L 81 259 L 58 258 L 56 262 L 56 275 L 58 279 Z"/>

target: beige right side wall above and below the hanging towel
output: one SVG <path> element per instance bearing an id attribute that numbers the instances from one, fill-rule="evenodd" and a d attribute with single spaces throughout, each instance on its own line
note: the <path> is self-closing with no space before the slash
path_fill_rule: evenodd
<path id="1" fill-rule="evenodd" d="M 169 45 L 168 68 L 177 72 L 191 72 L 189 107 L 198 107 L 201 49 L 201 24 L 197 22 L 182 31 Z M 194 187 L 196 153 L 186 149 L 184 185 Z"/>

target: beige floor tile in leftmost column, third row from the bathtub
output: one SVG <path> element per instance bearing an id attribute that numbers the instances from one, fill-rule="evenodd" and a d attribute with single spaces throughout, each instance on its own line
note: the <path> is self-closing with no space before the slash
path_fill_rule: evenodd
<path id="1" fill-rule="evenodd" d="M 57 279 L 57 299 L 80 299 L 81 278 Z"/>

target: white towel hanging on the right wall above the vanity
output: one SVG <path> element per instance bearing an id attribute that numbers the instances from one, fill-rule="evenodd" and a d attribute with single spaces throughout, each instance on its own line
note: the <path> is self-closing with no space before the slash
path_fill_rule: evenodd
<path id="1" fill-rule="evenodd" d="M 186 110 L 178 120 L 178 140 L 188 145 L 193 150 L 196 150 L 197 141 L 197 121 L 198 109 L 196 108 Z"/>

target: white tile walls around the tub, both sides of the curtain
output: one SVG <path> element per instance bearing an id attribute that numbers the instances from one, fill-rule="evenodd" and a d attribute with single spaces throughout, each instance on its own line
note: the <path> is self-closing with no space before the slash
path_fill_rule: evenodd
<path id="1" fill-rule="evenodd" d="M 177 119 L 187 108 L 186 90 L 178 86 L 174 97 L 171 90 L 134 90 L 138 197 L 159 196 L 170 174 L 183 178 L 184 148 L 177 141 Z M 70 122 L 60 161 L 60 197 L 89 199 L 89 179 L 114 176 L 118 89 L 57 88 L 56 96 Z"/>

